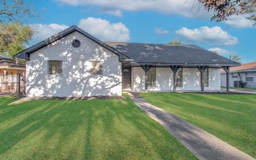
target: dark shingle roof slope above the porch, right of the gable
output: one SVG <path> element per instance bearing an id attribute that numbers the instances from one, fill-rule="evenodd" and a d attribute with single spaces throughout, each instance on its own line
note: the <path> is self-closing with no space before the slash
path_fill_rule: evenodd
<path id="1" fill-rule="evenodd" d="M 119 52 L 127 55 L 136 63 L 175 63 L 175 64 L 240 64 L 205 50 L 196 45 L 169 45 L 148 43 L 105 42 Z"/>

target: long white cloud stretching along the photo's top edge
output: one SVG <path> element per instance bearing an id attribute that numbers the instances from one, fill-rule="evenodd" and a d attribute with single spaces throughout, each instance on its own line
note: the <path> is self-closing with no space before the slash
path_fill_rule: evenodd
<path id="1" fill-rule="evenodd" d="M 209 17 L 203 7 L 197 13 L 197 7 L 191 10 L 195 0 L 55 0 L 60 4 L 73 6 L 96 5 L 103 10 L 119 11 L 156 11 L 167 14 L 178 14 L 186 17 Z M 186 2 L 186 3 L 185 3 Z M 195 14 L 197 13 L 197 14 Z"/>

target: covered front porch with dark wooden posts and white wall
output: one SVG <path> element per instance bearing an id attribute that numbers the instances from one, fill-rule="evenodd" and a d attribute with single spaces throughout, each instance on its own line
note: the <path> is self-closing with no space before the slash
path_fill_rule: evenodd
<path id="1" fill-rule="evenodd" d="M 122 90 L 132 91 L 220 91 L 220 69 L 227 65 L 189 65 L 122 62 Z M 227 81 L 229 82 L 229 81 Z M 226 87 L 230 91 L 229 84 Z"/>

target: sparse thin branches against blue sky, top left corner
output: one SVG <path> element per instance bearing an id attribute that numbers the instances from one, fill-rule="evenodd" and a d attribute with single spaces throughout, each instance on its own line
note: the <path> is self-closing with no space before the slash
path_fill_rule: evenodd
<path id="1" fill-rule="evenodd" d="M 33 4 L 25 0 L 0 0 L 0 23 L 22 22 L 35 15 Z"/>

